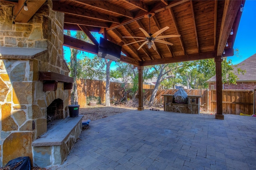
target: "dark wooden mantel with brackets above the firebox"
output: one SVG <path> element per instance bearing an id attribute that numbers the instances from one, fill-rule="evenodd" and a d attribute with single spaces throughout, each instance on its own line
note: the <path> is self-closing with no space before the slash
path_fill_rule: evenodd
<path id="1" fill-rule="evenodd" d="M 56 72 L 39 72 L 39 80 L 43 81 L 43 91 L 56 91 L 58 82 L 64 82 L 64 90 L 71 90 L 74 78 Z"/>

